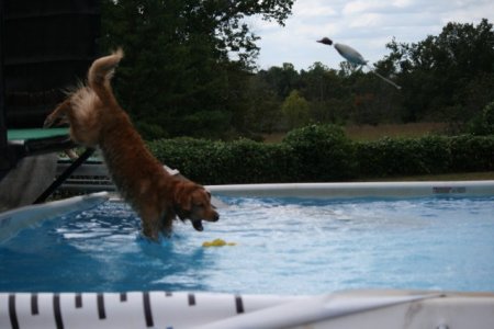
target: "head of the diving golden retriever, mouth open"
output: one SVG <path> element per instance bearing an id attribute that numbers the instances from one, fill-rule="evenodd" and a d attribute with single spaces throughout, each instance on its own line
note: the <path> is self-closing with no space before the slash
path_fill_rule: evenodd
<path id="1" fill-rule="evenodd" d="M 192 182 L 180 182 L 181 186 L 176 190 L 175 212 L 180 219 L 189 218 L 192 226 L 202 231 L 202 220 L 216 222 L 218 213 L 211 204 L 211 193 L 203 186 Z"/>

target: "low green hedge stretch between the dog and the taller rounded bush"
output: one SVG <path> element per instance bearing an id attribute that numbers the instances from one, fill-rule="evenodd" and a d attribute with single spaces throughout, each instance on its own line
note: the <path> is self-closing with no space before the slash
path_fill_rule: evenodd
<path id="1" fill-rule="evenodd" d="M 148 144 L 164 163 L 203 184 L 289 182 L 296 162 L 287 145 L 179 138 Z"/>

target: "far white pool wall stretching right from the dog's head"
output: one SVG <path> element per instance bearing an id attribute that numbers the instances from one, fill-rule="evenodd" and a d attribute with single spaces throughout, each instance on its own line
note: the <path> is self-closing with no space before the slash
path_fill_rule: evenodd
<path id="1" fill-rule="evenodd" d="M 214 195 L 234 197 L 426 197 L 494 195 L 494 181 L 285 183 L 206 186 Z"/>

